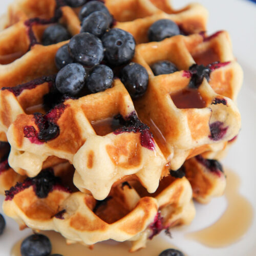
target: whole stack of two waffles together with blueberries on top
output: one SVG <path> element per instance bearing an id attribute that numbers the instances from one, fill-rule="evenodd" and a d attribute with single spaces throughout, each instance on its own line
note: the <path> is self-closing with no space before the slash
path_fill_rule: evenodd
<path id="1" fill-rule="evenodd" d="M 189 224 L 193 198 L 221 196 L 243 73 L 207 16 L 167 0 L 14 1 L 0 32 L 5 214 L 133 252 Z"/>

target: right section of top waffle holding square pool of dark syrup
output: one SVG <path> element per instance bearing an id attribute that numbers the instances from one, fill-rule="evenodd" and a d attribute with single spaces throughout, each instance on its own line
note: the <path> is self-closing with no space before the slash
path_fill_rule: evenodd
<path id="1" fill-rule="evenodd" d="M 212 71 L 209 77 L 210 84 L 204 79 L 198 89 L 189 88 L 194 71 L 187 70 L 193 65 L 195 68 L 198 67 L 191 53 L 194 56 L 199 56 L 200 53 L 202 60 L 202 49 L 207 55 L 210 46 L 219 46 L 221 43 L 217 44 L 216 41 L 220 42 L 224 36 L 227 36 L 226 32 L 209 37 L 205 42 L 200 34 L 179 35 L 160 42 L 141 44 L 136 48 L 134 61 L 146 68 L 150 81 L 145 95 L 134 101 L 135 109 L 142 121 L 151 127 L 166 159 L 172 159 L 170 161 L 172 169 L 178 169 L 187 158 L 206 151 L 216 151 L 216 142 L 218 142 L 217 149 L 223 149 L 227 141 L 239 132 L 241 122 L 239 111 L 233 101 L 223 97 L 228 95 L 235 99 L 241 87 L 242 71 L 238 63 L 232 61 L 231 54 L 226 54 L 228 55 L 226 58 L 221 56 L 209 60 L 225 60 L 220 63 L 208 63 L 208 68 Z M 167 56 L 166 49 L 168 49 Z M 150 66 L 166 58 L 175 63 L 181 71 L 154 76 Z M 226 61 L 228 58 L 230 61 Z M 201 60 L 199 60 L 200 64 Z M 236 70 L 239 75 L 235 75 Z M 233 79 L 229 78 L 230 74 Z M 220 84 L 225 84 L 224 89 L 219 89 Z M 215 91 L 221 94 L 216 94 Z M 191 93 L 190 102 L 183 98 L 188 93 Z M 186 104 L 183 104 L 184 102 Z M 232 116 L 232 120 L 228 116 Z M 218 123 L 223 124 L 223 128 L 226 127 L 226 133 L 214 138 L 212 129 Z"/>

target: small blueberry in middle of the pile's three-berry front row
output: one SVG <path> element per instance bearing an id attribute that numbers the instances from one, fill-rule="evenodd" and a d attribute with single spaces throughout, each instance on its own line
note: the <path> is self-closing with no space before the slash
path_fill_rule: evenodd
<path id="1" fill-rule="evenodd" d="M 105 65 L 94 67 L 87 79 L 88 90 L 91 93 L 98 93 L 111 88 L 113 76 L 112 69 Z"/>

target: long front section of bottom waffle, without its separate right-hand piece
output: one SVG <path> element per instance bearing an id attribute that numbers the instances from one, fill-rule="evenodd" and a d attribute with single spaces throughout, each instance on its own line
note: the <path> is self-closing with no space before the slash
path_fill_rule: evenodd
<path id="1" fill-rule="evenodd" d="M 48 172 L 42 170 L 40 175 Z M 58 181 L 53 183 L 53 177 L 48 181 L 52 187 L 47 188 L 47 197 L 39 198 L 38 191 L 44 188 L 40 175 L 6 191 L 5 214 L 21 228 L 53 229 L 70 242 L 92 245 L 108 239 L 130 240 L 131 251 L 135 251 L 145 246 L 147 238 L 162 229 L 188 224 L 195 215 L 185 177 L 164 178 L 154 194 L 148 194 L 138 181 L 125 182 L 113 188 L 107 199 L 96 201 L 86 193 L 71 193 Z"/>

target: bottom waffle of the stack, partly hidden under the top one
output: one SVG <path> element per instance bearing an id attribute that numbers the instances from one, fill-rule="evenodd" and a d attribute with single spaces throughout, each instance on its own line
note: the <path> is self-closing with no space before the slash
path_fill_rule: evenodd
<path id="1" fill-rule="evenodd" d="M 195 216 L 192 197 L 207 203 L 222 195 L 226 184 L 220 163 L 200 155 L 170 171 L 153 194 L 139 181 L 130 180 L 113 187 L 102 201 L 77 191 L 72 182 L 74 168 L 69 163 L 44 169 L 34 178 L 25 179 L 11 168 L 4 173 L 20 181 L 6 191 L 3 208 L 21 229 L 55 230 L 68 243 L 84 245 L 129 240 L 131 252 L 145 247 L 147 239 L 163 229 L 189 224 Z M 6 177 L 0 173 L 1 184 Z"/>

